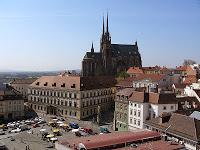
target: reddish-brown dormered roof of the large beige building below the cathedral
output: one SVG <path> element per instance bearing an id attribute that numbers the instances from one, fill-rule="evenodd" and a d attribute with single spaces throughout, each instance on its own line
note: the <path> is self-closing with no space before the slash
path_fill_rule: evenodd
<path id="1" fill-rule="evenodd" d="M 80 76 L 42 76 L 33 82 L 30 87 L 36 88 L 58 88 L 72 90 L 91 90 L 114 87 L 116 80 L 114 77 L 80 77 Z"/>

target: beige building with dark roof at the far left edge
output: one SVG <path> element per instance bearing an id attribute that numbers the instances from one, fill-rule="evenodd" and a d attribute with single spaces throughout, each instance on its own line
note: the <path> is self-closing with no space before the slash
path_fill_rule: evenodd
<path id="1" fill-rule="evenodd" d="M 4 88 L 0 89 L 0 120 L 17 119 L 24 116 L 22 95 Z"/>

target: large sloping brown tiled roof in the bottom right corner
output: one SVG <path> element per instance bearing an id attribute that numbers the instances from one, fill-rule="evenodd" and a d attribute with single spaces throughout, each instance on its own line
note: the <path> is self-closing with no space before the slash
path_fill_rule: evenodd
<path id="1" fill-rule="evenodd" d="M 173 113 L 168 122 L 160 123 L 160 117 L 145 121 L 145 124 L 166 130 L 167 133 L 182 136 L 194 141 L 200 140 L 200 121 L 186 115 Z"/>

